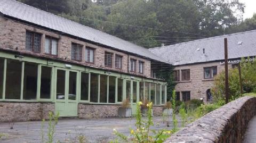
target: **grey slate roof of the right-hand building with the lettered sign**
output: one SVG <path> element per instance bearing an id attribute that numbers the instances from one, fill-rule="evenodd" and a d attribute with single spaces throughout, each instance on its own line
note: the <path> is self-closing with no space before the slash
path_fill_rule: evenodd
<path id="1" fill-rule="evenodd" d="M 149 49 L 172 65 L 224 60 L 224 38 L 228 39 L 228 58 L 256 56 L 256 30 L 189 41 Z M 205 48 L 205 55 L 203 54 Z"/>

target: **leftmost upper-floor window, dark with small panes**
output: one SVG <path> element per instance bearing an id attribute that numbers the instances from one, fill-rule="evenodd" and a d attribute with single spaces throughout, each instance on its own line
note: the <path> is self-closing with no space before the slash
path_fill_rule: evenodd
<path id="1" fill-rule="evenodd" d="M 26 50 L 40 53 L 41 35 L 35 32 L 26 32 Z"/>

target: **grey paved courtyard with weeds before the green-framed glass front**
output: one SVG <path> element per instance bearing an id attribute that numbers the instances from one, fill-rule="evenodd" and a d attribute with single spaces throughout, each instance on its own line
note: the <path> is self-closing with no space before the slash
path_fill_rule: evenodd
<path id="1" fill-rule="evenodd" d="M 170 117 L 171 121 L 171 117 Z M 166 127 L 162 117 L 154 117 L 154 127 L 152 129 L 172 129 Z M 41 122 L 17 122 L 14 124 L 14 129 L 9 129 L 9 123 L 0 123 L 0 133 L 7 134 L 0 140 L 3 143 L 30 143 L 41 142 Z M 129 128 L 134 128 L 135 118 L 106 118 L 106 119 L 60 119 L 56 125 L 56 133 L 54 140 L 73 139 L 78 134 L 83 134 L 91 142 L 102 142 L 103 140 L 111 140 L 115 138 L 113 129 L 119 132 L 129 134 Z M 43 128 L 46 136 L 47 122 Z"/>

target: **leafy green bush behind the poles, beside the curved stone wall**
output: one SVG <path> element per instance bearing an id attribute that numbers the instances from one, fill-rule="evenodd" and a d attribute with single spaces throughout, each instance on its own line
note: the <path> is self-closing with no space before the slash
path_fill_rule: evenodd
<path id="1" fill-rule="evenodd" d="M 241 63 L 241 74 L 242 74 L 242 87 L 243 92 L 256 92 L 256 62 L 245 62 L 248 59 L 242 59 Z M 229 69 L 228 71 L 229 81 L 229 94 L 231 99 L 237 99 L 241 97 L 240 86 L 239 86 L 239 72 L 238 69 Z M 225 72 L 221 72 L 215 77 L 213 91 L 214 101 L 223 100 L 225 97 Z"/>

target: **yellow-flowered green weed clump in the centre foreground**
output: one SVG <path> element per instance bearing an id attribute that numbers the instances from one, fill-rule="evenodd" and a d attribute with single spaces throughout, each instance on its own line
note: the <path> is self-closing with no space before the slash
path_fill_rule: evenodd
<path id="1" fill-rule="evenodd" d="M 136 110 L 136 123 L 135 127 L 137 130 L 130 129 L 130 136 L 125 136 L 125 134 L 120 133 L 114 129 L 114 134 L 119 139 L 116 139 L 111 142 L 164 142 L 168 137 L 170 137 L 171 133 L 173 131 L 166 131 L 166 130 L 150 130 L 151 125 L 154 125 L 153 123 L 153 117 L 152 117 L 152 106 L 153 103 L 148 103 L 148 112 L 147 112 L 147 120 L 143 120 L 141 116 L 141 105 L 142 102 L 137 103 L 137 110 Z"/>

